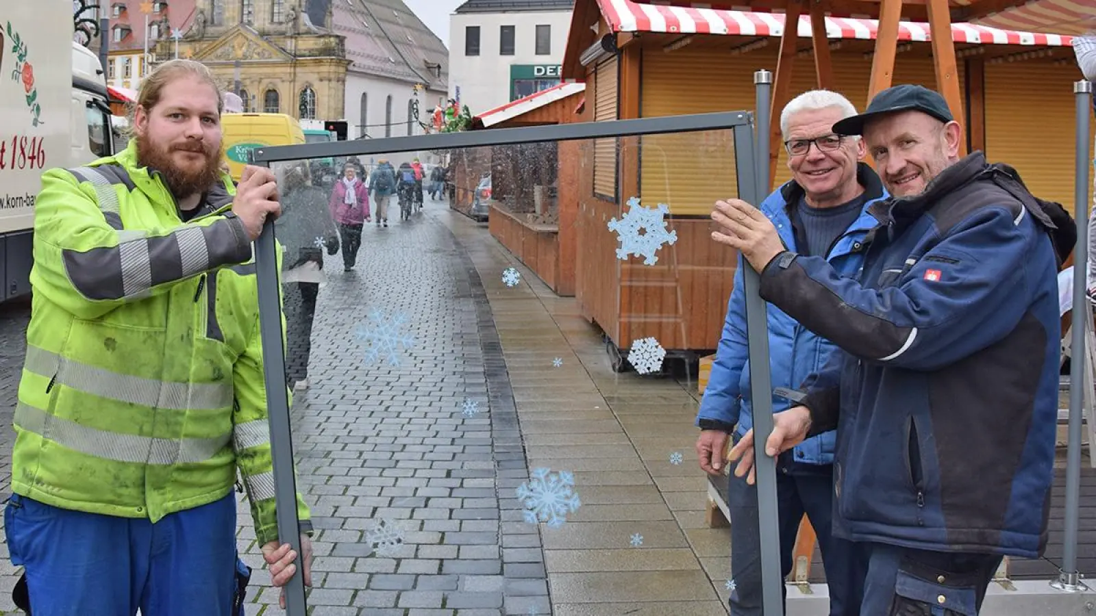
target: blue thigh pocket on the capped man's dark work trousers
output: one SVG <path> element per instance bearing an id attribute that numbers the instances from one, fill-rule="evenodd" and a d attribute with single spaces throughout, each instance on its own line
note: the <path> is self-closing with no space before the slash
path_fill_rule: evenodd
<path id="1" fill-rule="evenodd" d="M 903 560 L 888 616 L 978 616 L 975 575 Z"/>

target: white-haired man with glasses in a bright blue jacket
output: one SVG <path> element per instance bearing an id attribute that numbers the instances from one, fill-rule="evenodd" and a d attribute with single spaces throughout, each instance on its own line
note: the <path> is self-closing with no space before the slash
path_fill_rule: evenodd
<path id="1" fill-rule="evenodd" d="M 792 99 L 780 114 L 792 180 L 761 205 L 761 212 L 773 220 L 789 249 L 824 259 L 848 276 L 856 275 L 864 237 L 876 226 L 867 208 L 886 197 L 879 176 L 860 162 L 865 155 L 860 138 L 833 132 L 834 123 L 854 115 L 853 103 L 835 92 L 813 90 Z M 700 468 L 715 476 L 721 476 L 728 435 L 733 434 L 737 441 L 753 425 L 745 329 L 740 258 L 719 350 L 696 421 L 701 430 L 696 444 Z M 772 306 L 768 335 L 774 387 L 799 387 L 836 349 Z M 787 400 L 774 398 L 773 406 L 784 410 Z M 830 532 L 834 440 L 833 431 L 819 434 L 777 460 L 780 567 L 785 577 L 791 571 L 796 533 L 806 513 L 818 533 L 825 564 L 830 614 L 845 616 L 859 613 L 857 571 L 863 558 L 855 544 L 833 537 Z M 735 583 L 730 597 L 731 615 L 761 616 L 757 492 L 744 478 L 734 476 L 729 488 L 731 572 Z"/>

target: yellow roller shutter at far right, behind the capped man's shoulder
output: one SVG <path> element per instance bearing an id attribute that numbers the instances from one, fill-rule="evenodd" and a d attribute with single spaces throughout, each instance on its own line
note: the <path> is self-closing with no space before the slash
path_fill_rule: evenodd
<path id="1" fill-rule="evenodd" d="M 985 65 L 986 158 L 1012 164 L 1032 193 L 1070 212 L 1076 173 L 1073 82 L 1078 79 L 1072 61 Z"/>

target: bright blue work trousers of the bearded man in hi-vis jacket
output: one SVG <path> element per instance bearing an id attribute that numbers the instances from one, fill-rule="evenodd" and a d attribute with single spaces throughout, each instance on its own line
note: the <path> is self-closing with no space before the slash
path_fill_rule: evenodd
<path id="1" fill-rule="evenodd" d="M 156 524 L 13 494 L 4 531 L 33 616 L 239 614 L 235 494 Z"/>

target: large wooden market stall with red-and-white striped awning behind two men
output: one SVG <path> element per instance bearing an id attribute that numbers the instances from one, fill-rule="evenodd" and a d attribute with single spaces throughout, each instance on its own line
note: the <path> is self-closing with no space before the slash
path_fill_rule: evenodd
<path id="1" fill-rule="evenodd" d="M 1069 203 L 1072 133 L 1047 127 L 1072 118 L 1070 84 L 1080 71 L 1071 38 L 951 24 L 947 10 L 934 8 L 946 0 L 915 1 L 774 0 L 749 12 L 718 2 L 694 9 L 578 0 L 563 78 L 586 83 L 593 104 L 580 118 L 597 122 L 752 110 L 753 72 L 772 70 L 774 184 L 789 179 L 778 118 L 794 94 L 821 85 L 863 107 L 893 83 L 939 80 L 968 149 L 1008 160 L 1034 192 Z M 835 16 L 871 12 L 882 20 Z M 786 19 L 796 28 L 785 28 Z M 735 193 L 730 133 L 604 139 L 584 156 L 575 296 L 585 316 L 619 347 L 654 336 L 667 350 L 715 349 L 735 255 L 709 240 L 708 215 L 716 198 Z M 617 260 L 616 236 L 605 227 L 633 196 L 670 206 L 677 241 L 653 266 Z"/>

